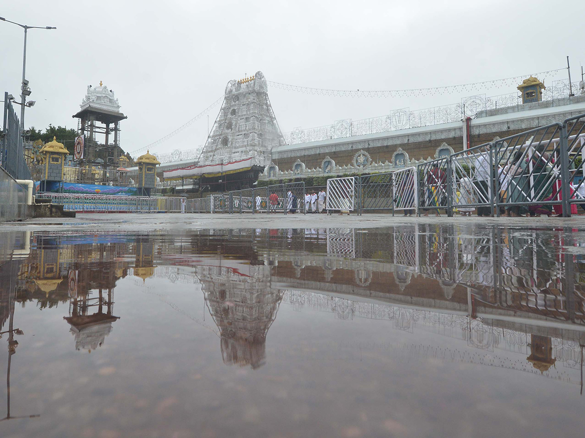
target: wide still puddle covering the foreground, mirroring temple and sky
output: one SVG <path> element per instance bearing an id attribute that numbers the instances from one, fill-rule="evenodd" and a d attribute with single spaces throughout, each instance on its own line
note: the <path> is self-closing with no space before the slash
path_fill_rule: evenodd
<path id="1" fill-rule="evenodd" d="M 0 436 L 583 436 L 584 246 L 472 223 L 0 232 Z"/>

